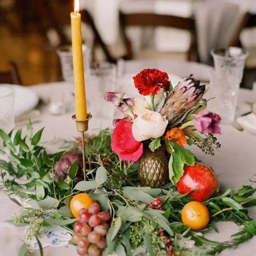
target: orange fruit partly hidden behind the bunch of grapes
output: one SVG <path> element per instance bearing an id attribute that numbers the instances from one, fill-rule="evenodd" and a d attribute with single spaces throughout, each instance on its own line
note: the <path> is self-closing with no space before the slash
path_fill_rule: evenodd
<path id="1" fill-rule="evenodd" d="M 86 208 L 88 209 L 91 204 L 96 203 L 93 199 L 89 198 L 87 193 L 81 193 L 75 195 L 70 201 L 70 209 L 75 218 L 78 218 L 79 210 Z"/>

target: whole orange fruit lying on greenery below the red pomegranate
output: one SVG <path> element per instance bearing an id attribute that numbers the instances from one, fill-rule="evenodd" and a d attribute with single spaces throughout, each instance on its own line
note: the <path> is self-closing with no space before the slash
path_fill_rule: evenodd
<path id="1" fill-rule="evenodd" d="M 192 230 L 201 230 L 209 222 L 208 208 L 197 201 L 187 203 L 181 211 L 181 221 Z"/>

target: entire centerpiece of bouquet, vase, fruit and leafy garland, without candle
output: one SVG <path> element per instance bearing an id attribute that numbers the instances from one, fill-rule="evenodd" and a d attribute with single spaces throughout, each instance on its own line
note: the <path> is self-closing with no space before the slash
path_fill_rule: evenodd
<path id="1" fill-rule="evenodd" d="M 9 222 L 26 226 L 19 256 L 32 248 L 43 256 L 40 240 L 56 226 L 72 236 L 70 246 L 81 256 L 213 256 L 256 235 L 248 213 L 256 205 L 253 177 L 240 189 L 219 192 L 212 169 L 184 148 L 195 144 L 206 154 L 220 148 L 213 135 L 220 133 L 220 118 L 204 110 L 205 87 L 188 76 L 172 88 L 158 70 L 144 70 L 134 81 L 145 98 L 106 93 L 123 119 L 114 120 L 113 134 L 106 129 L 85 138 L 86 180 L 81 138 L 49 154 L 40 143 L 44 128 L 34 133 L 29 122 L 26 135 L 0 130 L 0 189 L 20 206 Z M 204 238 L 218 232 L 218 221 L 240 230 L 224 242 Z"/>

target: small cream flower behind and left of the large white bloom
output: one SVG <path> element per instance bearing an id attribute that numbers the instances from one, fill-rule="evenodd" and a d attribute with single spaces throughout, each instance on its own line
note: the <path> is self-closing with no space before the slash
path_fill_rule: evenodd
<path id="1" fill-rule="evenodd" d="M 134 115 L 138 116 L 146 109 L 151 109 L 151 105 L 148 105 L 144 98 L 131 98 L 131 100 L 128 102 L 128 105 L 130 105 L 132 112 L 130 109 L 126 109 L 122 112 L 122 115 L 124 117 L 130 116 L 131 121 L 134 120 Z"/>

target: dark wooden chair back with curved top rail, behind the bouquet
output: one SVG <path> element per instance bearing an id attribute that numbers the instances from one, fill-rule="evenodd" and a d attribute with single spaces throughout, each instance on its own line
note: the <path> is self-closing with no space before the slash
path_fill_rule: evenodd
<path id="1" fill-rule="evenodd" d="M 193 18 L 177 17 L 172 15 L 159 15 L 154 13 L 119 13 L 120 26 L 125 39 L 125 45 L 128 52 L 128 59 L 133 58 L 131 49 L 131 41 L 125 33 L 125 29 L 129 26 L 164 26 L 176 29 L 183 29 L 191 32 L 193 40 L 187 52 L 187 59 L 191 59 L 191 53 L 196 48 L 196 26 Z"/>

